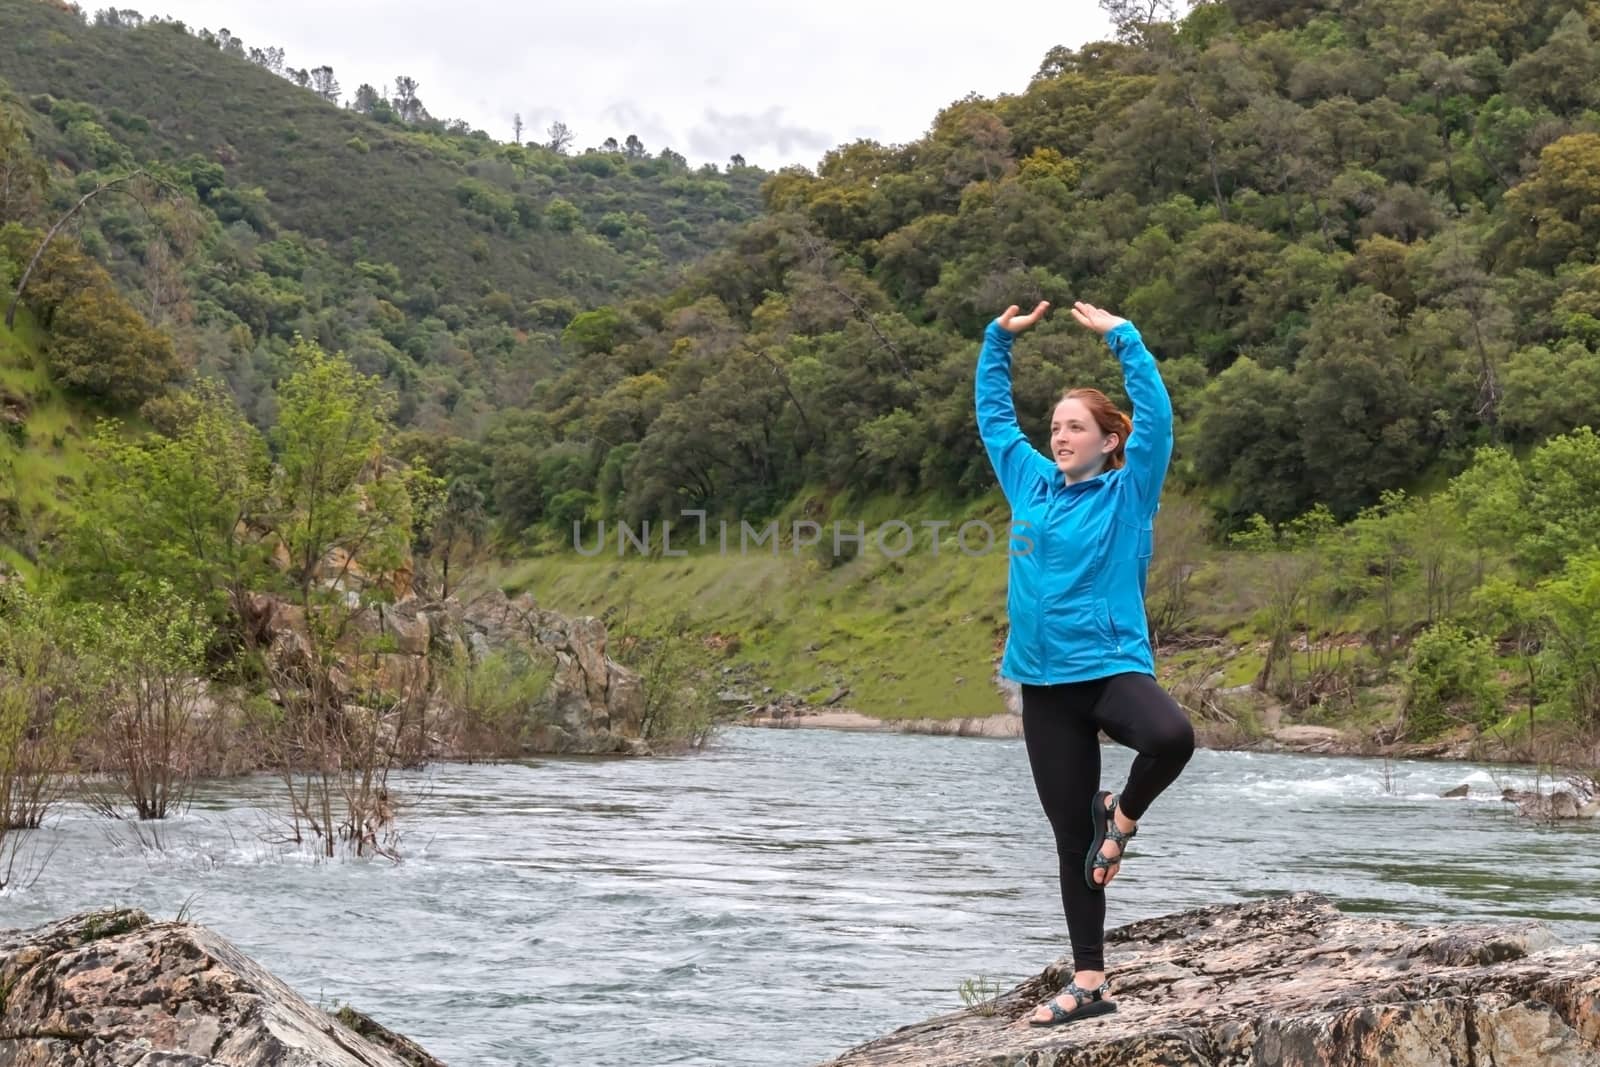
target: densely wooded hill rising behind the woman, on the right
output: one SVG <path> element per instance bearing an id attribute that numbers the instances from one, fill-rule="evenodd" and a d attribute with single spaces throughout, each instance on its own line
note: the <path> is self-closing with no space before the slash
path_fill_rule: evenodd
<path id="1" fill-rule="evenodd" d="M 502 512 L 981 491 L 976 341 L 1038 298 L 1138 323 L 1182 422 L 1174 480 L 1224 528 L 1350 517 L 1594 422 L 1597 29 L 1571 0 L 1221 0 L 1051 50 L 912 144 L 774 176 L 659 323 L 622 315 L 544 394 L 518 430 L 544 474 Z M 1117 368 L 1058 314 L 1016 376 L 1043 442 L 1058 390 Z"/>

